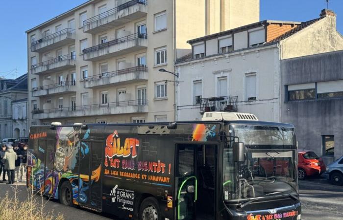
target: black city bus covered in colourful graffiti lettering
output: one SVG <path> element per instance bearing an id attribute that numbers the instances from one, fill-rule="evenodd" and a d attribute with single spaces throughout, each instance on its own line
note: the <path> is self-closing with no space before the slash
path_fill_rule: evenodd
<path id="1" fill-rule="evenodd" d="M 26 185 L 121 219 L 300 220 L 295 143 L 293 125 L 237 112 L 32 126 Z"/>

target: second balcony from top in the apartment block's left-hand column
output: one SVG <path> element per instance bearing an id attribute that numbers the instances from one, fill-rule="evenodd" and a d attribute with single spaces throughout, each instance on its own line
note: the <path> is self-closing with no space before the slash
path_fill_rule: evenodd
<path id="1" fill-rule="evenodd" d="M 75 55 L 59 56 L 31 66 L 32 74 L 51 73 L 65 69 L 75 68 Z"/>

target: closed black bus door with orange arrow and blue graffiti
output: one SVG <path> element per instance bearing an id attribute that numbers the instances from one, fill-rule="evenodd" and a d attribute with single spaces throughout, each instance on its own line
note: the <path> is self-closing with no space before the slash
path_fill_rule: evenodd
<path id="1" fill-rule="evenodd" d="M 79 205 L 98 212 L 102 210 L 102 149 L 101 140 L 82 140 L 79 152 Z"/>

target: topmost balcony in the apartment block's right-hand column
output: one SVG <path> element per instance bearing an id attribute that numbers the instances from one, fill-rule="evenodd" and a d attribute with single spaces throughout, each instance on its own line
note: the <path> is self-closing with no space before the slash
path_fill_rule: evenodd
<path id="1" fill-rule="evenodd" d="M 131 0 L 83 22 L 83 32 L 96 34 L 147 16 L 147 0 Z"/>

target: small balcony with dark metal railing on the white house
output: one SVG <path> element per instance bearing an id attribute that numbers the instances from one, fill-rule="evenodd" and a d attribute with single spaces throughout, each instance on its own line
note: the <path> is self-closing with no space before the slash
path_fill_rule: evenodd
<path id="1" fill-rule="evenodd" d="M 207 111 L 237 111 L 238 96 L 220 96 L 196 100 L 200 104 L 200 114 Z"/>

